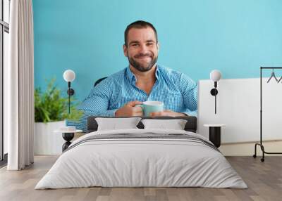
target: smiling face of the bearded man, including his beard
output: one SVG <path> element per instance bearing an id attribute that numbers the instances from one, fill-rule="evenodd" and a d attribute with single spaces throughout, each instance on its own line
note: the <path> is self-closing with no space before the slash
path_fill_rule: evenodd
<path id="1" fill-rule="evenodd" d="M 128 32 L 128 46 L 123 46 L 123 53 L 128 57 L 130 65 L 146 72 L 152 69 L 158 59 L 159 45 L 151 27 Z"/>

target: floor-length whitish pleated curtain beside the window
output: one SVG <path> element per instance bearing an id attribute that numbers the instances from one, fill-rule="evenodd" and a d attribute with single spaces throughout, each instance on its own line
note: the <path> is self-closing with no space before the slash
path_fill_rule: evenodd
<path id="1" fill-rule="evenodd" d="M 12 0 L 6 100 L 8 170 L 33 163 L 34 70 L 32 0 Z"/>

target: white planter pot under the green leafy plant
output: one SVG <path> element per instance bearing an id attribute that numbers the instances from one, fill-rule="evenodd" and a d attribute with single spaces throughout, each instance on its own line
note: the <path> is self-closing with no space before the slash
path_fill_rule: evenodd
<path id="1" fill-rule="evenodd" d="M 62 134 L 54 133 L 55 130 L 65 127 L 66 122 L 35 123 L 35 155 L 60 155 L 63 140 Z"/>

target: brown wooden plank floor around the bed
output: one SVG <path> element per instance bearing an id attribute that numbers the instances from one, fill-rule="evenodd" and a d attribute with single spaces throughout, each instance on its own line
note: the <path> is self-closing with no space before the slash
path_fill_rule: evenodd
<path id="1" fill-rule="evenodd" d="M 248 189 L 215 188 L 71 188 L 34 190 L 57 157 L 35 157 L 23 171 L 0 169 L 0 200 L 282 200 L 282 157 L 226 157 Z"/>

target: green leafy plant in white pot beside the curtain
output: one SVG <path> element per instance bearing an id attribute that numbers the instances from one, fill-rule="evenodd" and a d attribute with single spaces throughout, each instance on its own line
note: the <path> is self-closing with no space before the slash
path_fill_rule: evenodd
<path id="1" fill-rule="evenodd" d="M 61 91 L 54 86 L 55 79 L 51 79 L 47 90 L 42 93 L 35 89 L 35 140 L 36 155 L 59 155 L 65 142 L 55 130 L 66 126 L 66 119 L 78 120 L 82 111 L 77 110 L 78 103 L 71 105 L 68 114 L 68 98 L 61 96 Z M 73 103 L 72 98 L 72 103 Z"/>

